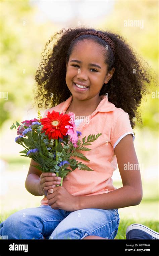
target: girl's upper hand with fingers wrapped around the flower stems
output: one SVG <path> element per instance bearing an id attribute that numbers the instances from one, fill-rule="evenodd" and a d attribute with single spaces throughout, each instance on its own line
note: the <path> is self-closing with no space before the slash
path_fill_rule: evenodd
<path id="1" fill-rule="evenodd" d="M 65 177 L 63 181 L 68 181 L 69 178 Z M 57 184 L 60 185 L 61 177 L 57 177 L 56 173 L 43 172 L 40 175 L 40 186 L 45 196 L 49 189 L 55 188 Z"/>

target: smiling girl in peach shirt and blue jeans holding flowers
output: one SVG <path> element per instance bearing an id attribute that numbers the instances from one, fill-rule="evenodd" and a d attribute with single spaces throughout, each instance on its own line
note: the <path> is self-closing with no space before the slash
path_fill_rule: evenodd
<path id="1" fill-rule="evenodd" d="M 133 128 L 144 83 L 150 83 L 151 76 L 142 72 L 140 60 L 117 34 L 90 28 L 61 30 L 55 38 L 57 34 L 62 35 L 43 56 L 35 76 L 36 100 L 38 107 L 44 100 L 46 107 L 51 102 L 43 117 L 52 110 L 73 112 L 82 137 L 102 133 L 85 154 L 94 171 L 75 169 L 63 186 L 55 186 L 60 177 L 30 165 L 25 188 L 45 197 L 39 207 L 9 216 L 0 234 L 8 239 L 114 239 L 118 208 L 142 200 Z M 111 178 L 117 163 L 123 184 L 118 189 Z"/>

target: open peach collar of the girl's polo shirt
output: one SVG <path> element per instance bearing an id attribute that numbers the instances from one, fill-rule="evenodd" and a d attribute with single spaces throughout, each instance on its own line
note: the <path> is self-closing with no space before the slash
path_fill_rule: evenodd
<path id="1" fill-rule="evenodd" d="M 98 104 L 95 112 L 110 112 L 115 110 L 115 105 L 108 101 L 108 97 L 105 94 L 100 96 L 102 99 Z M 72 95 L 64 102 L 61 112 L 65 113 L 72 101 Z"/>

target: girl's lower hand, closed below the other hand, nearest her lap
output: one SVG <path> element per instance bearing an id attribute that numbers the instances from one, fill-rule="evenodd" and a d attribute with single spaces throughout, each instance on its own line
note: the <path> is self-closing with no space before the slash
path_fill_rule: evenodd
<path id="1" fill-rule="evenodd" d="M 78 210 L 78 196 L 71 195 L 63 186 L 48 190 L 48 204 L 54 210 L 65 210 L 73 212 Z"/>

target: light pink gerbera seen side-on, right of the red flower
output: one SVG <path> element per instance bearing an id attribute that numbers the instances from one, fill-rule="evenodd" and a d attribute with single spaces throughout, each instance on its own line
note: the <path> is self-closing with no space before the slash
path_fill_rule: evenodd
<path id="1" fill-rule="evenodd" d="M 78 135 L 76 132 L 76 125 L 75 125 L 75 114 L 73 112 L 68 113 L 68 115 L 70 116 L 70 121 L 68 121 L 68 123 L 70 123 L 71 125 L 66 125 L 65 128 L 67 128 L 67 132 L 66 135 L 68 134 L 70 136 L 70 141 L 73 144 L 73 147 L 77 147 L 77 142 L 78 142 Z"/>

